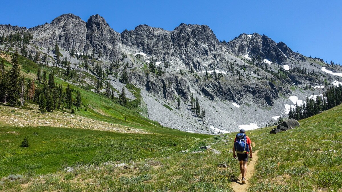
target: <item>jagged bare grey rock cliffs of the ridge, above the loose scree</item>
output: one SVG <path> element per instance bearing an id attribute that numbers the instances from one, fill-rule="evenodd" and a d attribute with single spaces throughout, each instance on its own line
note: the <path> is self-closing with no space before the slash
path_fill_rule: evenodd
<path id="1" fill-rule="evenodd" d="M 276 43 L 258 33 L 242 33 L 226 43 L 219 42 L 206 25 L 182 23 L 173 31 L 139 25 L 134 30 L 124 30 L 120 34 L 110 28 L 105 19 L 98 14 L 92 15 L 87 22 L 76 15 L 64 14 L 51 23 L 30 29 L 0 25 L 0 34 L 8 35 L 20 31 L 31 32 L 31 43 L 34 45 L 53 49 L 57 42 L 65 51 L 70 52 L 74 49 L 76 53 L 94 55 L 97 60 L 111 62 L 122 59 L 122 53 L 143 52 L 148 55 L 142 56 L 145 57 L 145 61 L 153 57 L 155 61 L 161 62 L 161 65 L 169 63 L 168 73 L 163 76 L 147 76 L 139 70 L 131 72 L 131 79 L 141 87 L 169 100 L 173 100 L 175 95 L 189 99 L 190 90 L 193 90 L 212 100 L 219 98 L 238 103 L 253 102 L 261 106 L 273 106 L 279 97 L 279 90 L 287 91 L 280 89 L 279 86 L 289 83 L 310 83 L 313 79 L 307 77 L 301 80 L 298 75 L 293 74 L 286 80 L 280 80 L 281 84 L 269 82 L 271 79 L 279 79 L 271 74 L 272 68 L 279 67 L 277 64 L 290 64 L 292 60 L 304 62 L 305 57 L 293 52 L 285 43 Z M 259 61 L 252 63 L 249 58 Z M 269 66 L 271 71 L 261 68 L 263 59 L 276 63 Z M 134 59 L 126 61 L 132 65 L 135 62 Z M 249 64 L 246 65 L 246 62 Z M 203 71 L 213 69 L 225 74 L 224 78 L 204 80 Z M 179 70 L 193 70 L 196 75 L 180 75 L 177 72 Z M 251 71 L 258 71 L 258 74 L 252 74 Z M 241 77 L 249 81 L 241 81 Z M 315 83 L 320 81 L 316 78 Z"/>

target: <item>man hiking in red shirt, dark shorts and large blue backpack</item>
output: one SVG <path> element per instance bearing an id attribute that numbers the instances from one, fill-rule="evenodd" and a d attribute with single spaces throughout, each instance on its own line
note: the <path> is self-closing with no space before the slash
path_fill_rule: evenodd
<path id="1" fill-rule="evenodd" d="M 249 158 L 252 158 L 252 145 L 251 139 L 246 136 L 245 129 L 240 129 L 240 133 L 236 134 L 233 147 L 233 157 L 237 158 L 240 162 L 240 171 L 242 175 L 242 183 L 246 183 L 247 162 Z M 249 155 L 249 158 L 248 158 Z"/>

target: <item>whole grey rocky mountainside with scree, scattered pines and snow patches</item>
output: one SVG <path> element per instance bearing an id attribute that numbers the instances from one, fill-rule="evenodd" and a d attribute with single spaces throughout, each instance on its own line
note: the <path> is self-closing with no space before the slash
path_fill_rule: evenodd
<path id="1" fill-rule="evenodd" d="M 118 96 L 132 84 L 135 91 L 126 89 L 135 100 L 131 106 L 142 101 L 142 109 L 134 110 L 187 132 L 273 125 L 302 100 L 342 82 L 342 68 L 333 61 L 304 56 L 258 33 L 219 41 L 206 25 L 182 23 L 172 31 L 139 25 L 120 33 L 98 14 L 87 21 L 63 14 L 32 28 L 0 25 L 0 36 L 6 53 L 18 49 L 86 90 L 108 81 Z M 198 107 L 191 106 L 192 98 Z"/>

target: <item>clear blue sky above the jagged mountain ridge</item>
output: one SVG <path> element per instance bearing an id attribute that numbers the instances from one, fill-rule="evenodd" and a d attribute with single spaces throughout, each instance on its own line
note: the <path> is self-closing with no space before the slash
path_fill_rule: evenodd
<path id="1" fill-rule="evenodd" d="M 329 3 L 328 3 L 329 2 Z M 96 13 L 118 32 L 147 24 L 173 30 L 181 23 L 208 25 L 222 40 L 240 33 L 267 35 L 293 51 L 342 63 L 342 1 L 2 1 L 0 24 L 50 23 L 64 13 L 83 20 Z"/>

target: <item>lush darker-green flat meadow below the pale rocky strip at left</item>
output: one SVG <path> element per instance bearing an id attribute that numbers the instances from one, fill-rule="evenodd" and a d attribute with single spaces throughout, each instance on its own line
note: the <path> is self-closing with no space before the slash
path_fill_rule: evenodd
<path id="1" fill-rule="evenodd" d="M 24 137 L 29 140 L 28 148 L 20 147 Z M 196 139 L 191 135 L 123 134 L 78 128 L 1 127 L 0 176 L 46 174 L 68 166 L 166 156 Z"/>

